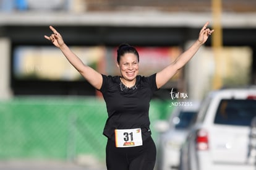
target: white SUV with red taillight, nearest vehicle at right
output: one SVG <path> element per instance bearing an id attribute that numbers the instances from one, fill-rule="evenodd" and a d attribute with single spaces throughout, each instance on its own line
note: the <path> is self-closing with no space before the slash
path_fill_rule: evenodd
<path id="1" fill-rule="evenodd" d="M 181 170 L 255 170 L 250 124 L 256 88 L 212 91 L 181 149 Z"/>

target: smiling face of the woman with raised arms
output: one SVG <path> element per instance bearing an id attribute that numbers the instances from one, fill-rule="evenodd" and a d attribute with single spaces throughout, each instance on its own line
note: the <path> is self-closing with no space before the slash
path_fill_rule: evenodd
<path id="1" fill-rule="evenodd" d="M 122 78 L 126 80 L 134 80 L 139 72 L 139 61 L 135 54 L 126 53 L 120 57 L 117 67 L 120 69 Z"/>

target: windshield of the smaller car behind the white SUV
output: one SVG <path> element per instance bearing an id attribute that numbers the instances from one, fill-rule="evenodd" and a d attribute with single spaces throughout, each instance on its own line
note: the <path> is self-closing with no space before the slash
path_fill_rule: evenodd
<path id="1" fill-rule="evenodd" d="M 189 127 L 195 114 L 197 114 L 196 111 L 181 111 L 181 113 L 179 113 L 179 117 L 174 117 L 174 119 L 176 119 L 174 120 L 175 128 L 186 129 Z"/>

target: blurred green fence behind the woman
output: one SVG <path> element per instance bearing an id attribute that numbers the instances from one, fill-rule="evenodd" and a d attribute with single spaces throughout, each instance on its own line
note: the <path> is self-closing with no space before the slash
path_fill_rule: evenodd
<path id="1" fill-rule="evenodd" d="M 169 107 L 163 101 L 151 102 L 151 124 L 163 117 L 166 109 Z M 106 104 L 99 98 L 22 97 L 0 101 L 0 159 L 104 163 L 107 138 L 102 132 L 106 119 Z"/>

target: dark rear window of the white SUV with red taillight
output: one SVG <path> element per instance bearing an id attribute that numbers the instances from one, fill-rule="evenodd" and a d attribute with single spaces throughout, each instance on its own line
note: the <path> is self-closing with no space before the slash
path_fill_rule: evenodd
<path id="1" fill-rule="evenodd" d="M 256 116 L 256 100 L 221 100 L 215 124 L 250 125 Z"/>

